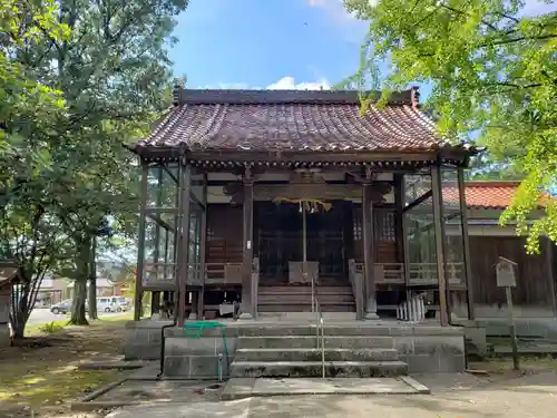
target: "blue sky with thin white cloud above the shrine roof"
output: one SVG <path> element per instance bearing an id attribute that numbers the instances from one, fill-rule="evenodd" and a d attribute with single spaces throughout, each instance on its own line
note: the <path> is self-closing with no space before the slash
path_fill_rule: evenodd
<path id="1" fill-rule="evenodd" d="M 541 1 L 525 14 L 557 8 Z M 328 88 L 358 69 L 367 29 L 342 0 L 190 0 L 170 58 L 192 88 Z"/>

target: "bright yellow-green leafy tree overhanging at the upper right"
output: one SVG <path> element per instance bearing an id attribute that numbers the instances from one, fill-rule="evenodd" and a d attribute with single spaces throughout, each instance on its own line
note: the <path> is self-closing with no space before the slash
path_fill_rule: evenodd
<path id="1" fill-rule="evenodd" d="M 501 223 L 557 241 L 557 204 L 546 200 L 543 218 L 529 213 L 557 182 L 557 12 L 526 16 L 522 0 L 345 0 L 370 22 L 356 79 L 383 72 L 384 97 L 410 82 L 430 82 L 427 105 L 440 130 L 478 142 L 496 162 L 524 176 Z M 553 4 L 553 9 L 551 6 Z M 540 4 L 541 6 L 541 4 Z M 378 80 L 378 78 L 374 78 Z M 354 81 L 354 80 L 352 80 Z"/>

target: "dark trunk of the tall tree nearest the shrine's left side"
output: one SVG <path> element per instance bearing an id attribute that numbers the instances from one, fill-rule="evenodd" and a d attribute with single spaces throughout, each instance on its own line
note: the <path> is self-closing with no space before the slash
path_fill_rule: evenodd
<path id="1" fill-rule="evenodd" d="M 87 236 L 76 242 L 78 256 L 76 260 L 76 279 L 74 284 L 74 302 L 71 304 L 72 325 L 88 325 L 85 314 L 85 301 L 87 299 L 87 279 L 89 278 L 89 264 L 91 256 L 91 239 Z"/>

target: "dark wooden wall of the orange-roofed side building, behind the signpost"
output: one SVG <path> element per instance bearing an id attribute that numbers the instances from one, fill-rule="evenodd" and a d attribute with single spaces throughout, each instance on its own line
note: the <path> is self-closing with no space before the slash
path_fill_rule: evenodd
<path id="1" fill-rule="evenodd" d="M 473 299 L 476 304 L 505 304 L 505 290 L 497 288 L 496 270 L 499 256 L 512 260 L 517 266 L 514 302 L 519 305 L 551 305 L 548 278 L 549 257 L 529 255 L 526 240 L 518 236 L 470 236 Z"/>

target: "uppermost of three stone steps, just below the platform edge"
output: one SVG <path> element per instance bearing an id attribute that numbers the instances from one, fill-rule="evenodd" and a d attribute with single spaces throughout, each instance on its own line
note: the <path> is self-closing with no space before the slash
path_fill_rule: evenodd
<path id="1" fill-rule="evenodd" d="M 316 349 L 315 329 L 313 336 L 241 337 L 241 349 Z M 326 337 L 326 349 L 392 349 L 392 337 Z"/>

